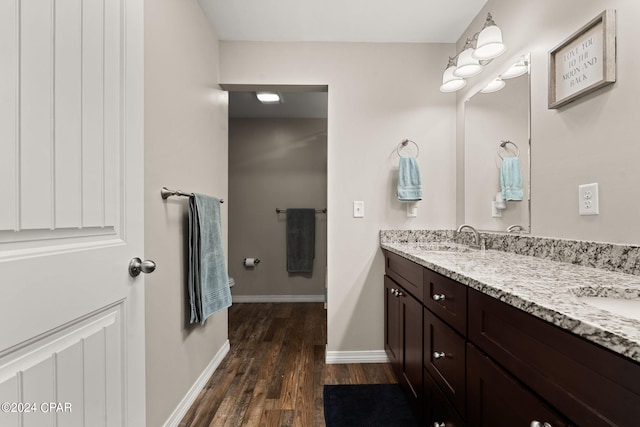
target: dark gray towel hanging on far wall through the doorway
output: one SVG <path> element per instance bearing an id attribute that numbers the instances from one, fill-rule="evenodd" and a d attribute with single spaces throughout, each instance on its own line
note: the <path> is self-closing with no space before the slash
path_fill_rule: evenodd
<path id="1" fill-rule="evenodd" d="M 287 271 L 311 273 L 316 246 L 316 210 L 287 209 Z"/>

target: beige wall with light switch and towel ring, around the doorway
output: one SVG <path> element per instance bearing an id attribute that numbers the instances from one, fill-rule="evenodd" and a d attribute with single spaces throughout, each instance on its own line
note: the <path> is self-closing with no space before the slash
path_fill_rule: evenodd
<path id="1" fill-rule="evenodd" d="M 328 350 L 383 349 L 381 228 L 454 225 L 455 102 L 438 90 L 452 45 L 220 43 L 225 84 L 328 85 Z M 395 197 L 397 144 L 420 144 L 424 201 Z M 365 217 L 353 218 L 353 201 Z"/>

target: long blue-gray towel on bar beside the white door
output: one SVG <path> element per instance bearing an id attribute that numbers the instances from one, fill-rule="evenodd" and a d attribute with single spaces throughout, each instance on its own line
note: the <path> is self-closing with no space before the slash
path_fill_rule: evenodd
<path id="1" fill-rule="evenodd" d="M 219 199 L 202 194 L 189 198 L 191 323 L 204 324 L 207 317 L 231 306 L 220 222 Z"/>

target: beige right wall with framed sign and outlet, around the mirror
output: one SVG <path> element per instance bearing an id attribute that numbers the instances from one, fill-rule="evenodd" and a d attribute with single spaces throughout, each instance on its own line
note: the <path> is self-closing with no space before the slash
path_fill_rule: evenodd
<path id="1" fill-rule="evenodd" d="M 547 109 L 548 52 L 604 9 L 617 10 L 617 81 L 558 110 Z M 488 68 L 498 71 L 531 51 L 532 233 L 537 236 L 638 243 L 640 144 L 640 2 L 632 0 L 489 0 L 459 44 L 481 28 L 490 11 L 508 52 Z M 490 73 L 483 73 L 490 74 Z M 470 81 L 458 95 L 458 144 L 463 101 L 482 86 Z M 578 185 L 599 183 L 600 215 L 578 215 Z"/>

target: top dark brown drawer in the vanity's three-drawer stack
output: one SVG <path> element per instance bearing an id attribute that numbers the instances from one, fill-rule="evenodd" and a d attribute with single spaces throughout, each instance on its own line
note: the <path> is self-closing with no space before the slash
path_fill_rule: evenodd
<path id="1" fill-rule="evenodd" d="M 424 305 L 462 335 L 467 334 L 467 287 L 424 269 Z"/>

